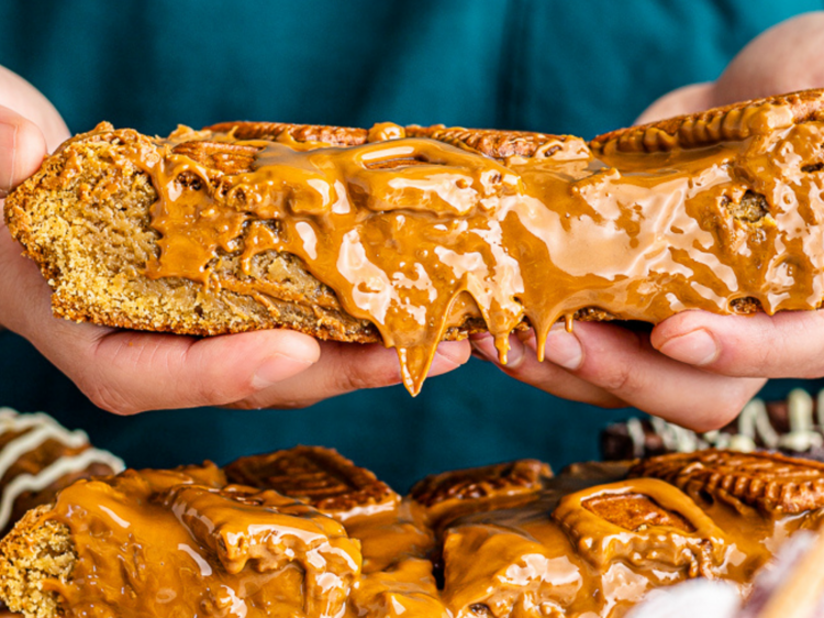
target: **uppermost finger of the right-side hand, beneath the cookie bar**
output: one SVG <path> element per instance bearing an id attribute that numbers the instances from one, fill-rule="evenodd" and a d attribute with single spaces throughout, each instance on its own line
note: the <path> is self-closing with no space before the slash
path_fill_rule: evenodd
<path id="1" fill-rule="evenodd" d="M 728 376 L 824 376 L 824 310 L 772 317 L 687 311 L 658 324 L 652 343 L 681 363 Z"/>

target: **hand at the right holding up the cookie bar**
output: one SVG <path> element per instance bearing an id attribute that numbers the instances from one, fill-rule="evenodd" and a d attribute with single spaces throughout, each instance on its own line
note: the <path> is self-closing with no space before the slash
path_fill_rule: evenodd
<path id="1" fill-rule="evenodd" d="M 824 86 L 824 13 L 783 22 L 747 45 L 715 82 L 661 97 L 638 124 L 715 106 Z M 523 340 L 523 341 L 522 341 Z M 512 336 L 509 375 L 559 397 L 604 407 L 635 406 L 698 431 L 735 418 L 768 377 L 824 376 L 824 311 L 716 316 L 678 313 L 650 334 L 616 324 L 556 324 L 546 362 L 534 335 Z M 475 353 L 497 362 L 489 335 Z M 527 349 L 527 350 L 525 350 Z"/>

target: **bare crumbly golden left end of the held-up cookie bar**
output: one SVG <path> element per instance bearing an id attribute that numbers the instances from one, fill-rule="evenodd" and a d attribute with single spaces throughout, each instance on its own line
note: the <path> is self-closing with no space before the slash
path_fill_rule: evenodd
<path id="1" fill-rule="evenodd" d="M 143 276 L 159 254 L 159 233 L 149 225 L 157 192 L 134 165 L 112 164 L 125 141 L 151 144 L 107 124 L 78 135 L 7 200 L 9 229 L 54 289 L 55 314 L 186 334 L 289 327 L 324 339 L 377 340 L 371 324 L 347 316 L 290 254 L 269 252 L 255 264 L 253 276 L 280 288 L 266 302 L 183 278 Z M 214 269 L 233 278 L 237 263 L 226 255 Z"/>

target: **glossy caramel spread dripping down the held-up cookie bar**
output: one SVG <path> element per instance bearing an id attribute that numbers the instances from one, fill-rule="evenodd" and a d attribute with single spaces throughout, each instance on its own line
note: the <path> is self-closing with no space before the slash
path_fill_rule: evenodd
<path id="1" fill-rule="evenodd" d="M 505 362 L 524 319 L 543 357 L 550 327 L 586 308 L 656 323 L 683 309 L 731 313 L 741 299 L 770 314 L 813 309 L 824 297 L 824 123 L 799 122 L 787 100 L 590 144 L 533 134 L 535 147 L 501 158 L 461 130 L 389 123 L 346 147 L 289 131 L 135 140 L 125 156 L 159 196 L 159 256 L 145 274 L 265 299 L 266 282 L 222 280 L 210 265 L 294 254 L 397 349 L 412 394 L 469 317 L 482 317 Z M 204 140 L 241 164 L 187 156 L 186 143 Z"/>

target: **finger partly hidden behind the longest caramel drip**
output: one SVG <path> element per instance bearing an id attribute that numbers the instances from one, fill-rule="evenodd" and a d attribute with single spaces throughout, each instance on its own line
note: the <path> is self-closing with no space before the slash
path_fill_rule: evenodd
<path id="1" fill-rule="evenodd" d="M 469 360 L 467 341 L 438 345 L 427 374 L 434 377 L 458 368 Z M 401 383 L 398 353 L 380 343 L 321 342 L 321 358 L 300 375 L 253 397 L 237 401 L 237 408 L 302 408 L 322 399 L 363 388 Z"/>

